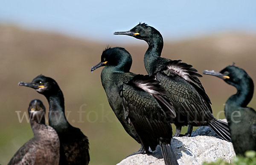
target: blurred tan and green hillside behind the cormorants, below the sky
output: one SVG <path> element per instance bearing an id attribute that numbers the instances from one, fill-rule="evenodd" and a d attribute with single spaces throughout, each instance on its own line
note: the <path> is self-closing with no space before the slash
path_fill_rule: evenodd
<path id="1" fill-rule="evenodd" d="M 119 44 L 92 41 L 0 25 L 0 164 L 7 164 L 17 149 L 33 137 L 30 124 L 25 119 L 20 123 L 16 111 L 21 111 L 22 116 L 23 112 L 27 113 L 29 102 L 38 98 L 48 112 L 49 105 L 43 95 L 17 85 L 19 81 L 32 81 L 39 74 L 54 78 L 61 87 L 66 115 L 70 113 L 68 121 L 89 138 L 90 165 L 113 165 L 137 151 L 140 145 L 124 131 L 108 105 L 100 80 L 102 69 L 90 72 L 90 67 L 100 61 L 102 50 L 110 45 L 124 47 L 131 53 L 131 72 L 146 74 L 143 55 L 148 46 L 144 41 L 131 41 Z M 182 59 L 199 73 L 205 69 L 219 71 L 235 62 L 256 82 L 255 43 L 253 33 L 217 33 L 176 41 L 164 37 L 162 56 Z M 200 80 L 211 98 L 216 117 L 236 89 L 212 76 Z M 249 106 L 256 108 L 256 97 Z M 84 111 L 81 118 L 79 109 Z M 219 118 L 224 118 L 224 114 Z"/>

